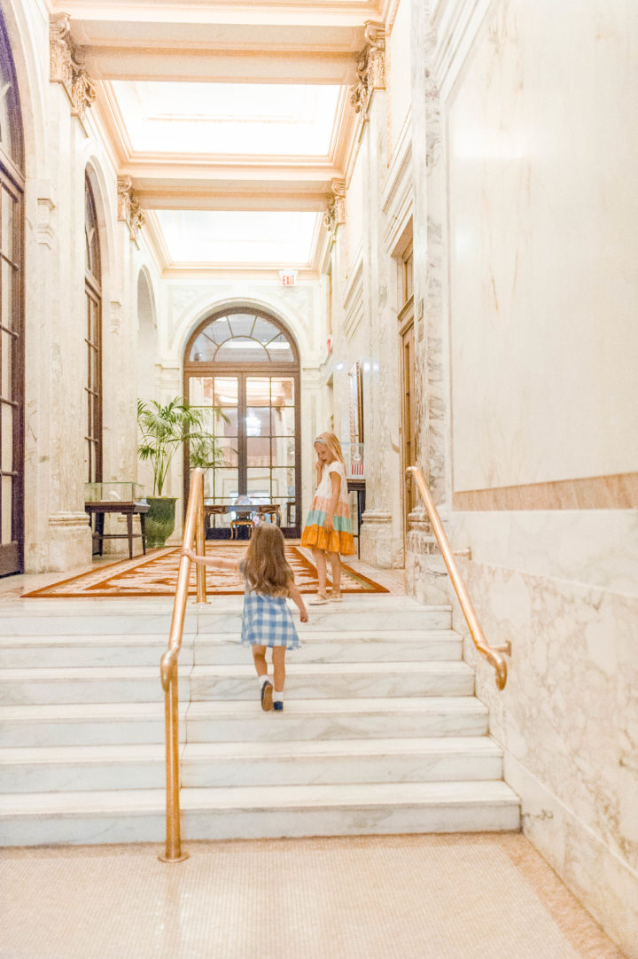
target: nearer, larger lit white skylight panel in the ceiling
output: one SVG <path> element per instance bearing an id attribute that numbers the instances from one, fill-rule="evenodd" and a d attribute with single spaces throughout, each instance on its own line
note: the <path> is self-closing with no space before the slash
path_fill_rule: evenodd
<path id="1" fill-rule="evenodd" d="M 111 83 L 134 152 L 327 155 L 339 86 Z"/>

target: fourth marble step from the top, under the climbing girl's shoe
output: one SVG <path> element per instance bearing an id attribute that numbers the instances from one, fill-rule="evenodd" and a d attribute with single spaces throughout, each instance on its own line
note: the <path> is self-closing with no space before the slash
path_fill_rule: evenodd
<path id="1" fill-rule="evenodd" d="M 475 737 L 487 733 L 487 709 L 474 696 L 287 700 L 263 713 L 257 697 L 237 702 L 179 702 L 179 736 L 189 742 L 295 739 Z M 187 719 L 186 719 L 187 717 Z M 0 707 L 2 746 L 162 744 L 164 704 L 70 703 Z"/>

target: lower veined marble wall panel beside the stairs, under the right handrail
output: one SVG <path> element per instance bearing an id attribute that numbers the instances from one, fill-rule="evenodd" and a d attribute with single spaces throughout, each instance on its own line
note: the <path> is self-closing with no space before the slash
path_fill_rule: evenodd
<path id="1" fill-rule="evenodd" d="M 638 928 L 638 596 L 460 562 L 488 642 L 512 643 L 499 692 L 451 597 L 524 829 L 626 947 Z"/>

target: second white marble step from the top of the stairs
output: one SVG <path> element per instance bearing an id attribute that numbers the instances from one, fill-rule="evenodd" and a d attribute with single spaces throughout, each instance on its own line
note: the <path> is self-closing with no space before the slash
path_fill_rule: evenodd
<path id="1" fill-rule="evenodd" d="M 167 636 L 12 636 L 0 637 L 0 668 L 156 666 Z M 295 663 L 362 663 L 410 660 L 451 662 L 462 655 L 461 636 L 452 630 L 318 630 L 304 636 Z M 239 634 L 186 636 L 179 665 L 249 661 Z M 269 657 L 270 658 L 270 657 Z"/>

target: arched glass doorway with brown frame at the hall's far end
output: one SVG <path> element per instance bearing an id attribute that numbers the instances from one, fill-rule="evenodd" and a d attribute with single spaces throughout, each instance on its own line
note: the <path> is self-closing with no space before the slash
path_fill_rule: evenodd
<path id="1" fill-rule="evenodd" d="M 299 356 L 279 320 L 244 307 L 207 316 L 186 344 L 184 396 L 208 410 L 207 430 L 224 451 L 223 465 L 206 470 L 206 503 L 276 504 L 285 535 L 298 536 Z M 187 458 L 184 467 L 187 492 Z"/>

